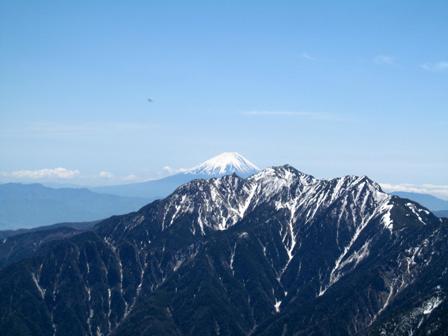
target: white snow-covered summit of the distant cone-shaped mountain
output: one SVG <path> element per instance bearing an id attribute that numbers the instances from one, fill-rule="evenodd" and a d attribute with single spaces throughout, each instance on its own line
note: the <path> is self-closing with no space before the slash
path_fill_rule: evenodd
<path id="1" fill-rule="evenodd" d="M 210 177 L 230 174 L 252 175 L 259 168 L 244 156 L 236 152 L 224 152 L 211 159 L 191 168 L 187 171 L 190 174 L 210 175 Z"/>

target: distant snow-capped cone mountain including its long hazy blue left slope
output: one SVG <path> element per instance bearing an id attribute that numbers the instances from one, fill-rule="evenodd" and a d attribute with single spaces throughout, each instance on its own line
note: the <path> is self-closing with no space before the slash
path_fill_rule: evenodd
<path id="1" fill-rule="evenodd" d="M 210 179 L 230 174 L 249 177 L 259 168 L 236 152 L 224 152 L 180 173 L 139 183 L 91 188 L 92 191 L 127 197 L 140 197 L 148 201 L 168 196 L 180 185 L 196 180 Z"/>

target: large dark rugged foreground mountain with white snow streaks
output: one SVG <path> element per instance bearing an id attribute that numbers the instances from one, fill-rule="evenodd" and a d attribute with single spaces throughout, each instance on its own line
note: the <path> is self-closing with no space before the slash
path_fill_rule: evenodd
<path id="1" fill-rule="evenodd" d="M 365 176 L 194 180 L 1 271 L 0 333 L 445 335 L 447 239 Z"/>

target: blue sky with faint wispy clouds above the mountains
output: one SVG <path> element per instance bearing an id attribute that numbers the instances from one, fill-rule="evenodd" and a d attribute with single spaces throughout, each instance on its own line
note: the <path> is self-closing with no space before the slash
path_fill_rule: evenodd
<path id="1" fill-rule="evenodd" d="M 237 151 L 448 197 L 447 18 L 446 0 L 0 1 L 1 180 Z"/>

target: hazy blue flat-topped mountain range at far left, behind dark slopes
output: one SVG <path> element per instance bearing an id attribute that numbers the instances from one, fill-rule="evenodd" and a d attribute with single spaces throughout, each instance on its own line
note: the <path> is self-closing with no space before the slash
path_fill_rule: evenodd
<path id="1" fill-rule="evenodd" d="M 135 211 L 148 199 L 48 188 L 41 184 L 0 184 L 0 228 L 31 228 L 59 222 L 103 219 Z"/>

